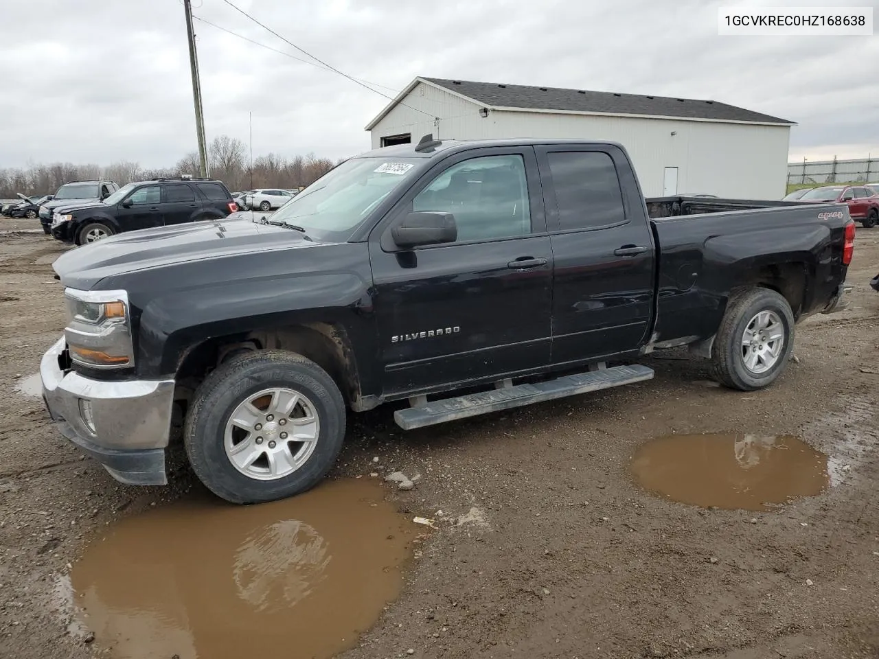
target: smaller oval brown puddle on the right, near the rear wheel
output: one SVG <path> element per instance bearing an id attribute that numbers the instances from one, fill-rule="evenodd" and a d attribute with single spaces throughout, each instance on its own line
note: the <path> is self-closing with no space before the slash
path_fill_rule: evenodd
<path id="1" fill-rule="evenodd" d="M 827 456 L 786 436 L 667 435 L 636 451 L 632 473 L 675 501 L 746 511 L 772 510 L 830 485 Z"/>

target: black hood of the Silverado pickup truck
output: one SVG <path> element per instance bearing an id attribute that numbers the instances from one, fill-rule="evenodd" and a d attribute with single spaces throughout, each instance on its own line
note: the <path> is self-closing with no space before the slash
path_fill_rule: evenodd
<path id="1" fill-rule="evenodd" d="M 148 268 L 320 244 L 291 228 L 226 218 L 113 235 L 65 252 L 53 268 L 64 286 L 88 290 L 106 277 Z"/>

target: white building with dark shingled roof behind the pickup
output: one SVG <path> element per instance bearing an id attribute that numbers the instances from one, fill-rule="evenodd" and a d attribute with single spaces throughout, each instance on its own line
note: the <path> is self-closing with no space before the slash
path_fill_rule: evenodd
<path id="1" fill-rule="evenodd" d="M 369 122 L 373 148 L 439 139 L 621 142 L 647 197 L 781 199 L 793 121 L 734 105 L 417 77 Z"/>

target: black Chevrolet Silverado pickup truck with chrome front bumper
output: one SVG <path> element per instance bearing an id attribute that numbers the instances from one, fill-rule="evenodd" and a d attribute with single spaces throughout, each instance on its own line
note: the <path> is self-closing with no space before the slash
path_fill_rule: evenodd
<path id="1" fill-rule="evenodd" d="M 681 345 L 766 387 L 795 322 L 839 308 L 853 250 L 841 204 L 645 201 L 618 144 L 425 136 L 271 216 L 59 257 L 43 392 L 121 482 L 166 482 L 177 417 L 209 489 L 269 501 L 330 469 L 346 409 L 408 400 L 396 422 L 417 428 L 649 380 L 634 362 Z"/>

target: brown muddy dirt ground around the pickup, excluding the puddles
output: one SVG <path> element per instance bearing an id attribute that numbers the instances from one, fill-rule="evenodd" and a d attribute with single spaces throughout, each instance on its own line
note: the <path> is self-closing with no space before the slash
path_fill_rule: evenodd
<path id="1" fill-rule="evenodd" d="M 859 228 L 855 244 L 851 307 L 803 322 L 797 360 L 765 391 L 713 387 L 704 363 L 670 353 L 646 360 L 649 382 L 405 436 L 391 409 L 352 419 L 332 477 L 419 472 L 415 489 L 386 496 L 410 516 L 469 521 L 440 519 L 401 597 L 345 659 L 410 648 L 448 658 L 879 656 L 879 293 L 868 287 L 879 229 Z M 63 249 L 0 233 L 0 657 L 104 656 L 100 639 L 69 633 L 59 576 L 105 525 L 199 487 L 185 467 L 169 488 L 113 482 L 54 431 L 38 398 L 16 392 L 62 330 L 50 264 Z M 746 512 L 672 503 L 633 482 L 630 456 L 649 438 L 723 431 L 802 437 L 832 456 L 834 487 Z"/>

